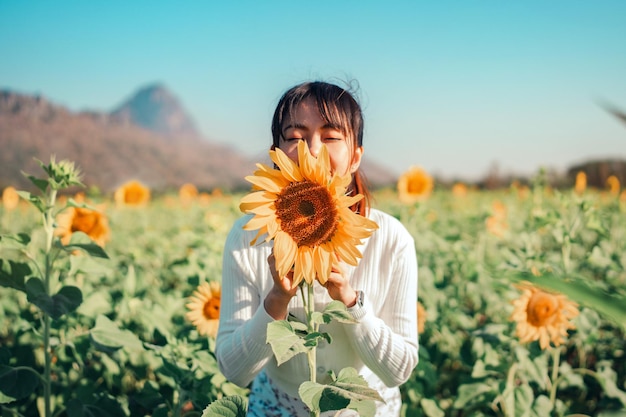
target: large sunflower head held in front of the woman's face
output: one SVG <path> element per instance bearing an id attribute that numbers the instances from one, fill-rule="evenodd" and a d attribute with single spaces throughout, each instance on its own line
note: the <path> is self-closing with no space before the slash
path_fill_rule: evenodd
<path id="1" fill-rule="evenodd" d="M 246 177 L 253 192 L 240 204 L 241 211 L 254 214 L 243 227 L 258 230 L 251 244 L 264 235 L 266 242 L 273 239 L 276 270 L 285 276 L 293 267 L 296 285 L 316 278 L 326 283 L 340 259 L 357 265 L 357 246 L 378 226 L 350 209 L 363 198 L 346 195 L 351 175 L 331 174 L 326 147 L 316 159 L 304 141 L 298 143 L 299 163 L 280 149 L 270 151 L 270 158 L 279 169 L 257 164 Z"/>

